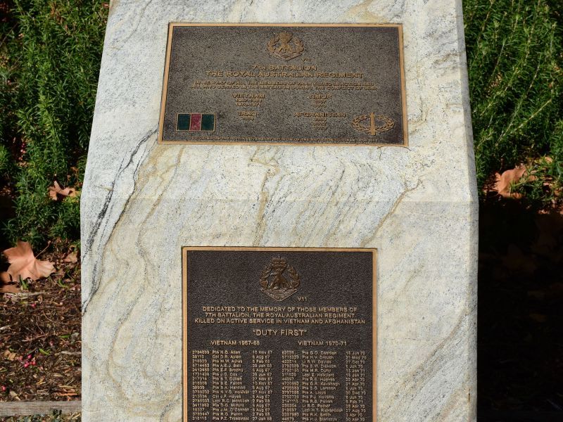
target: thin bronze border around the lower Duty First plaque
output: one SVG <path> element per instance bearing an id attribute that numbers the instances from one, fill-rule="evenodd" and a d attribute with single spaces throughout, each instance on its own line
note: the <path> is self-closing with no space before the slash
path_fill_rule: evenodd
<path id="1" fill-rule="evenodd" d="M 377 422 L 377 249 L 375 248 L 268 248 L 229 246 L 182 247 L 182 421 L 188 421 L 188 253 L 190 250 L 231 250 L 257 252 L 365 252 L 372 253 L 372 415 Z"/>

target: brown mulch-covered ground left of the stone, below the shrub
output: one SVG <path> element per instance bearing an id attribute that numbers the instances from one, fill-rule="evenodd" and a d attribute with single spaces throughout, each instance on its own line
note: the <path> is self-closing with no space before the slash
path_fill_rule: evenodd
<path id="1" fill-rule="evenodd" d="M 0 294 L 0 402 L 80 399 L 80 263 L 55 249 L 56 274 Z"/>

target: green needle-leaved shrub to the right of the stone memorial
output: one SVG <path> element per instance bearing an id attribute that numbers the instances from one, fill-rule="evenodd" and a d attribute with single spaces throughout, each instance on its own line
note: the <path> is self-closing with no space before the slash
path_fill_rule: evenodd
<path id="1" fill-rule="evenodd" d="M 562 14 L 560 0 L 464 0 L 480 191 L 494 172 L 545 155 L 527 198 L 545 206 L 563 182 Z"/>

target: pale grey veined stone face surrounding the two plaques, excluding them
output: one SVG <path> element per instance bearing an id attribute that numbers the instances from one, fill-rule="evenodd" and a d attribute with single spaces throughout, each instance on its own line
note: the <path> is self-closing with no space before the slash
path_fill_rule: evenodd
<path id="1" fill-rule="evenodd" d="M 403 23 L 409 148 L 158 145 L 178 21 Z M 198 245 L 377 248 L 378 421 L 475 421 L 461 0 L 113 1 L 81 200 L 84 421 L 181 420 Z"/>

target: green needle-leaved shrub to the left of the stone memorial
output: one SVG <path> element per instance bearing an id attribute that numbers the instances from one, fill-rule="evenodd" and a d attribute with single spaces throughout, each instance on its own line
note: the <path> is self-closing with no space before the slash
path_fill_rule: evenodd
<path id="1" fill-rule="evenodd" d="M 106 18 L 101 1 L 13 4 L 0 62 L 0 172 L 15 190 L 16 217 L 4 226 L 11 243 L 80 236 L 79 201 L 53 201 L 48 188 L 58 180 L 80 189 Z"/>

